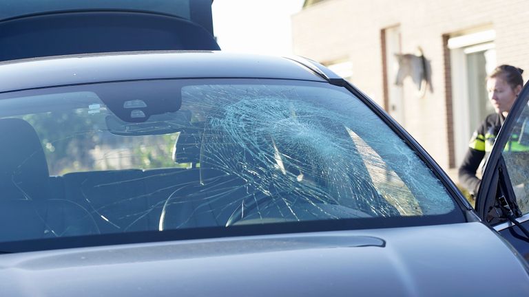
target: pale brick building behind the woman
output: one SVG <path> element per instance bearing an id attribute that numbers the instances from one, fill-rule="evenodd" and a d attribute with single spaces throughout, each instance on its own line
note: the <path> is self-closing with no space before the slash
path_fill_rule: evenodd
<path id="1" fill-rule="evenodd" d="M 528 19 L 528 0 L 307 0 L 292 17 L 293 51 L 362 89 L 457 181 L 470 136 L 493 111 L 487 72 L 512 64 L 529 77 Z M 395 54 L 422 54 L 432 90 L 409 77 L 395 85 Z"/>

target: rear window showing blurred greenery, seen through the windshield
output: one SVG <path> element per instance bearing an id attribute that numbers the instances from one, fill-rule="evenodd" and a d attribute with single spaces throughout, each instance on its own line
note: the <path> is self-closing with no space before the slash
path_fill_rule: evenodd
<path id="1" fill-rule="evenodd" d="M 174 167 L 170 152 L 176 134 L 118 136 L 107 131 L 105 114 L 39 113 L 25 115 L 34 126 L 50 174 L 90 170 Z"/>

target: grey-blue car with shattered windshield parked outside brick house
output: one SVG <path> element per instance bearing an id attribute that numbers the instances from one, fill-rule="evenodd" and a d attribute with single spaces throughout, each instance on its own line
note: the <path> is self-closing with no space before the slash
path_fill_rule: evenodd
<path id="1" fill-rule="evenodd" d="M 3 62 L 0 81 L 3 296 L 529 294 L 504 150 L 475 212 L 318 63 L 88 54 Z"/>

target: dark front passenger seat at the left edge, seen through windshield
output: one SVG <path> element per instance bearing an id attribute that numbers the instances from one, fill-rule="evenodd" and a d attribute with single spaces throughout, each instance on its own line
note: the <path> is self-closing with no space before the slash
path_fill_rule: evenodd
<path id="1" fill-rule="evenodd" d="M 83 208 L 50 197 L 48 164 L 33 127 L 1 119 L 0 135 L 0 241 L 96 232 Z"/>

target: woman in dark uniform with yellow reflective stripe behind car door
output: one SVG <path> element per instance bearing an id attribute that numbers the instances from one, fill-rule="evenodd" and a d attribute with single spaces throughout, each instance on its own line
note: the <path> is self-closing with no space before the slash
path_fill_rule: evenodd
<path id="1" fill-rule="evenodd" d="M 488 157 L 492 150 L 499 128 L 523 87 L 522 72 L 523 70 L 517 67 L 501 65 L 487 78 L 488 99 L 496 112 L 487 115 L 477 127 L 465 158 L 459 166 L 459 182 L 468 189 L 472 197 L 477 193 L 481 183 L 476 177 L 477 168 L 481 160 Z"/>

